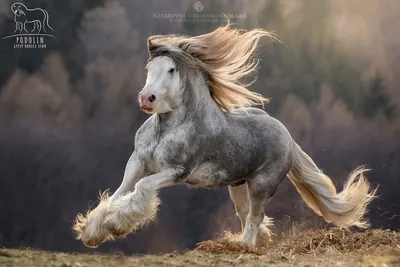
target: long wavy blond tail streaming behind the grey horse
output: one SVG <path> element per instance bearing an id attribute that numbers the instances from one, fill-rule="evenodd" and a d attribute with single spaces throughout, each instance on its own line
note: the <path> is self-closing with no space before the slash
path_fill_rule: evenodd
<path id="1" fill-rule="evenodd" d="M 307 205 L 327 222 L 344 228 L 367 228 L 366 207 L 376 197 L 377 189 L 370 190 L 364 177 L 366 171 L 361 167 L 350 173 L 343 191 L 337 193 L 331 179 L 294 143 L 293 166 L 288 176 Z"/>

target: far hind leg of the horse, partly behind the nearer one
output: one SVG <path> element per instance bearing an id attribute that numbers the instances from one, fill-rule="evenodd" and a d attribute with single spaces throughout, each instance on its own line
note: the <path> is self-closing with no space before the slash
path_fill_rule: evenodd
<path id="1" fill-rule="evenodd" d="M 246 217 L 249 212 L 249 195 L 247 193 L 247 183 L 239 186 L 229 186 L 229 195 L 235 205 L 236 215 L 240 219 L 242 231 L 246 224 Z"/>

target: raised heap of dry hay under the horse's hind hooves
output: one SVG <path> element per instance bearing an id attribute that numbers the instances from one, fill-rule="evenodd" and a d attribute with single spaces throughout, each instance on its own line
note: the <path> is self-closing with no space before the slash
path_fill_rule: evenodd
<path id="1" fill-rule="evenodd" d="M 380 229 L 351 232 L 339 228 L 292 231 L 286 236 L 275 236 L 272 243 L 263 242 L 260 246 L 254 247 L 241 242 L 238 234 L 225 232 L 222 238 L 199 243 L 196 251 L 256 255 L 288 253 L 295 255 L 326 251 L 367 252 L 382 247 L 400 253 L 400 233 Z"/>

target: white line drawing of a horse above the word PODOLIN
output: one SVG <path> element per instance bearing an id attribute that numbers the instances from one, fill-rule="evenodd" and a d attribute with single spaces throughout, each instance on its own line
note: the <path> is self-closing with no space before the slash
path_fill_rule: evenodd
<path id="1" fill-rule="evenodd" d="M 53 30 L 49 25 L 49 13 L 42 8 L 27 8 L 22 3 L 14 3 L 11 5 L 11 11 L 14 13 L 15 31 L 14 33 L 47 33 Z M 33 24 L 32 30 L 28 32 L 26 25 Z"/>

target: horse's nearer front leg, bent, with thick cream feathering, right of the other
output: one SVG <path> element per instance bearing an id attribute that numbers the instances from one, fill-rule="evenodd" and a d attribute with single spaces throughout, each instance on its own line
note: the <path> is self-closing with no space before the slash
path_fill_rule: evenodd
<path id="1" fill-rule="evenodd" d="M 105 220 L 105 227 L 115 236 L 125 236 L 155 218 L 160 200 L 158 190 L 181 181 L 184 170 L 166 169 L 144 177 L 135 191 L 114 200 Z"/>

